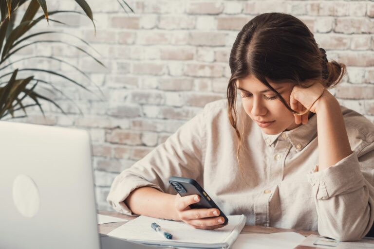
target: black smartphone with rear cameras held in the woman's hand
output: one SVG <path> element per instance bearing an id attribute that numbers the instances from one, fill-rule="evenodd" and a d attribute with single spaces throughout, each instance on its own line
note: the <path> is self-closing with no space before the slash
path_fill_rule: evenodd
<path id="1" fill-rule="evenodd" d="M 224 212 L 217 206 L 216 203 L 206 194 L 205 190 L 200 184 L 194 179 L 183 178 L 183 177 L 171 177 L 169 183 L 178 192 L 180 196 L 198 195 L 200 201 L 189 205 L 190 208 L 216 208 L 220 211 L 220 216 L 224 217 L 223 225 L 226 225 L 228 218 L 224 215 Z"/>

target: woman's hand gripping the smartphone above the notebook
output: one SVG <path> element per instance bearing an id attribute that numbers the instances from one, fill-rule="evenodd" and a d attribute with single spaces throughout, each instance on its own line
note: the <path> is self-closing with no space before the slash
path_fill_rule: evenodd
<path id="1" fill-rule="evenodd" d="M 216 208 L 191 209 L 189 205 L 200 201 L 200 196 L 175 196 L 174 206 L 178 220 L 181 220 L 196 229 L 217 229 L 225 225 L 224 217 L 219 216 L 220 211 Z"/>

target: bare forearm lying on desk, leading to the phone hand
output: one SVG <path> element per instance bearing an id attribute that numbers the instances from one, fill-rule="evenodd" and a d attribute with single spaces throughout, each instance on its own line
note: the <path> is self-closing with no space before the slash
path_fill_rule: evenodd
<path id="1" fill-rule="evenodd" d="M 151 187 L 141 187 L 131 192 L 125 204 L 135 214 L 176 220 L 174 200 L 174 195 L 162 193 Z"/>

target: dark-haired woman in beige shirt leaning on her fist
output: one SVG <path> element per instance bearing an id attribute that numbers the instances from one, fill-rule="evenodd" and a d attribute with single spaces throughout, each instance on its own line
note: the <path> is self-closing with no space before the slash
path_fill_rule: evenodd
<path id="1" fill-rule="evenodd" d="M 365 236 L 374 221 L 374 125 L 325 90 L 345 65 L 328 62 L 298 18 L 265 13 L 237 36 L 230 69 L 227 101 L 206 105 L 122 172 L 108 196 L 113 208 L 221 227 L 218 210 L 189 209 L 198 196 L 175 195 L 168 178 L 181 176 L 248 225 Z"/>

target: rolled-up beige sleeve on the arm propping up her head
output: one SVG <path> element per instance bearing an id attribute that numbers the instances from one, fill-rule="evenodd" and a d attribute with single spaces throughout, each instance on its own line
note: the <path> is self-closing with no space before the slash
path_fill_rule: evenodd
<path id="1" fill-rule="evenodd" d="M 322 171 L 311 171 L 319 234 L 340 241 L 363 238 L 374 222 L 374 143 Z"/>

